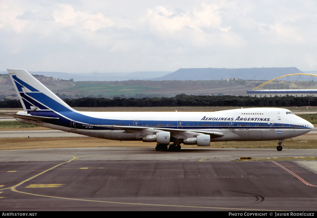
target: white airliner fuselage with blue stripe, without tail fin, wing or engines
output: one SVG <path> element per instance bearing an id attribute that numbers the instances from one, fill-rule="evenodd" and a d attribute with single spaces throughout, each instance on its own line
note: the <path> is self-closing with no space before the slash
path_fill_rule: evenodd
<path id="1" fill-rule="evenodd" d="M 191 131 L 216 130 L 223 132 L 223 136 L 211 137 L 210 141 L 285 139 L 300 136 L 314 128 L 308 121 L 282 108 L 248 108 L 218 112 L 69 113 L 78 113 L 94 119 L 92 119 L 93 121 L 86 119 L 85 122 L 74 120 L 76 125 L 73 128 L 32 120 L 27 120 L 27 123 L 112 140 L 141 140 L 142 134 L 123 130 L 123 128 L 130 126 L 144 127 L 148 131 L 151 129 L 159 129 L 159 131 L 164 131 L 165 128 L 174 129 L 171 136 L 178 139 L 191 137 Z M 23 122 L 21 119 L 19 121 Z M 115 128 L 109 128 L 109 126 L 115 126 Z M 177 130 L 180 131 L 177 132 Z M 187 135 L 184 133 L 185 130 Z"/>

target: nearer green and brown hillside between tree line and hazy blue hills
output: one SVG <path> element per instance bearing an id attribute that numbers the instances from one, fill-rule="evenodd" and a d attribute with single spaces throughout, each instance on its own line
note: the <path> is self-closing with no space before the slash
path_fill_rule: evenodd
<path id="1" fill-rule="evenodd" d="M 83 97 L 171 97 L 185 93 L 189 95 L 246 95 L 247 90 L 259 86 L 263 81 L 215 80 L 215 81 L 69 81 L 36 75 L 41 83 L 61 99 Z M 16 92 L 8 74 L 0 75 L 0 100 L 15 98 Z"/>

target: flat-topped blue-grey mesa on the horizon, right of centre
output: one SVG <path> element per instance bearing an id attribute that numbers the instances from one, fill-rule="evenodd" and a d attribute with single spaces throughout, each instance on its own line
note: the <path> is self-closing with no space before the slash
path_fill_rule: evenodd
<path id="1" fill-rule="evenodd" d="M 152 80 L 221 80 L 241 78 L 242 80 L 271 80 L 286 74 L 303 73 L 296 67 L 270 68 L 180 68 L 179 70 Z"/>

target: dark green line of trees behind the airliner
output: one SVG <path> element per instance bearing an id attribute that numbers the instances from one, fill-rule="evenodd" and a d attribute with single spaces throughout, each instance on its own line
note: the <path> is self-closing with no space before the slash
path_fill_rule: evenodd
<path id="1" fill-rule="evenodd" d="M 160 107 L 160 106 L 239 106 L 289 107 L 317 106 L 317 97 L 248 97 L 248 96 L 195 96 L 178 94 L 170 98 L 80 98 L 64 99 L 71 107 Z M 22 107 L 19 100 L 3 99 L 1 108 Z"/>

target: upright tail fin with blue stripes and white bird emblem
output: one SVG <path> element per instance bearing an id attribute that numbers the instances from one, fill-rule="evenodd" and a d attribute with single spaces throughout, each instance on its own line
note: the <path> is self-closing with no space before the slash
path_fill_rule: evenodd
<path id="1" fill-rule="evenodd" d="M 23 69 L 7 69 L 24 111 L 75 111 Z"/>

